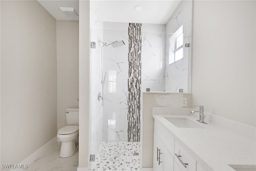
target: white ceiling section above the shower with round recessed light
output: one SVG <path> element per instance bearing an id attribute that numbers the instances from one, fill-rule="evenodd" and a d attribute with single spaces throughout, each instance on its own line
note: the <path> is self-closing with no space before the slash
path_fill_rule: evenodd
<path id="1" fill-rule="evenodd" d="M 181 0 L 92 0 L 98 15 L 105 22 L 166 24 Z M 141 11 L 134 7 L 142 6 Z"/>

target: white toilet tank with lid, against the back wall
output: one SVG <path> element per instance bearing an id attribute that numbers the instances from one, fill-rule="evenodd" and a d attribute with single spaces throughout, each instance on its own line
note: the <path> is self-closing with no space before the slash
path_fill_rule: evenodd
<path id="1" fill-rule="evenodd" d="M 67 119 L 67 125 L 78 125 L 79 124 L 78 107 L 66 108 L 66 119 Z"/>

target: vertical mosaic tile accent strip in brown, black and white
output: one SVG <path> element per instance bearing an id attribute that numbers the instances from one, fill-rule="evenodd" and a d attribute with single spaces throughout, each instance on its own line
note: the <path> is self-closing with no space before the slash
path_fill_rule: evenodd
<path id="1" fill-rule="evenodd" d="M 140 142 L 141 24 L 129 23 L 128 36 L 128 142 Z"/>

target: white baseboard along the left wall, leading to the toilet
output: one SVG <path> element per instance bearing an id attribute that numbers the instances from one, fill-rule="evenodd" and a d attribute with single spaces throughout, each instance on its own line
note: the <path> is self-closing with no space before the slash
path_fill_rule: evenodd
<path id="1" fill-rule="evenodd" d="M 22 162 L 20 162 L 20 165 L 27 164 L 28 166 L 33 163 L 35 160 L 37 160 L 39 157 L 41 157 L 46 150 L 48 150 L 50 147 L 52 147 L 55 143 L 57 143 L 57 137 L 54 137 L 52 140 L 50 140 L 48 143 L 40 147 L 38 150 L 36 150 L 34 153 L 32 153 L 30 156 L 28 156 L 26 159 L 24 159 Z M 23 171 L 24 169 L 11 169 L 10 171 Z"/>

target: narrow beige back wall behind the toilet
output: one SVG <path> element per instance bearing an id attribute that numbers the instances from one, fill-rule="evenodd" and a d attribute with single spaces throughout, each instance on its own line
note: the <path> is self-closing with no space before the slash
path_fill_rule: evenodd
<path id="1" fill-rule="evenodd" d="M 66 123 L 65 109 L 78 107 L 78 21 L 56 20 L 57 130 Z"/>

